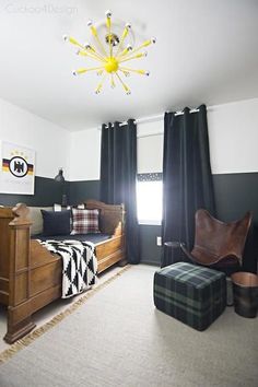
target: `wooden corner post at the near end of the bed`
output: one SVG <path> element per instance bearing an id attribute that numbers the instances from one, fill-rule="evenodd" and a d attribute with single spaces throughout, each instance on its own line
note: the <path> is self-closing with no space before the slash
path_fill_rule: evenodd
<path id="1" fill-rule="evenodd" d="M 4 340 L 13 343 L 28 333 L 35 324 L 31 318 L 31 255 L 28 209 L 17 204 L 10 227 L 8 332 Z"/>

